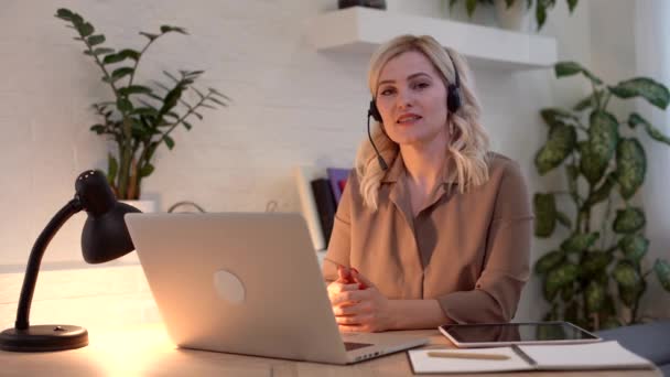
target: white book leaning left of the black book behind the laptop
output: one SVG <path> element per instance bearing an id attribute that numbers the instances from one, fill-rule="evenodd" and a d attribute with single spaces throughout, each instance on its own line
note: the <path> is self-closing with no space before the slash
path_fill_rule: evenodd
<path id="1" fill-rule="evenodd" d="M 324 250 L 326 243 L 321 229 L 321 219 L 318 217 L 318 209 L 316 209 L 316 201 L 314 200 L 311 182 L 318 177 L 325 177 L 325 173 L 322 174 L 321 170 L 316 166 L 300 165 L 293 169 L 293 176 L 300 196 L 301 213 L 305 223 L 307 223 L 312 246 L 316 251 Z"/>

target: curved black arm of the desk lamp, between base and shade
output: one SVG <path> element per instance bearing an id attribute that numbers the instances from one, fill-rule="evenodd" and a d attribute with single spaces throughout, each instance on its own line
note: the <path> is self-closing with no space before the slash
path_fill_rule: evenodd
<path id="1" fill-rule="evenodd" d="M 40 263 L 42 263 L 42 257 L 46 250 L 46 246 L 54 238 L 58 229 L 67 222 L 74 214 L 82 211 L 83 206 L 79 198 L 75 196 L 69 201 L 54 217 L 46 224 L 46 227 L 40 234 L 40 237 L 35 240 L 33 249 L 30 252 L 28 259 L 28 266 L 25 267 L 25 278 L 23 278 L 23 287 L 21 288 L 21 297 L 19 299 L 19 309 L 17 311 L 17 322 L 14 327 L 17 330 L 26 330 L 29 327 L 28 317 L 30 316 L 30 305 L 33 300 L 33 293 L 35 291 L 35 284 L 37 282 L 37 273 L 40 273 Z"/>

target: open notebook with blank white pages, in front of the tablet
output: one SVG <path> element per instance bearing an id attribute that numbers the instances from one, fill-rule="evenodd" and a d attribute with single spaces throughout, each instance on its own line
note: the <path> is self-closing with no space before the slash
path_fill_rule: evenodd
<path id="1" fill-rule="evenodd" d="M 434 357 L 429 353 L 467 354 L 463 357 Z M 646 369 L 653 364 L 616 341 L 566 345 L 512 345 L 493 348 L 412 349 L 415 374 L 491 373 L 520 370 Z M 499 356 L 482 359 L 472 355 Z M 502 359 L 505 358 L 505 359 Z"/>

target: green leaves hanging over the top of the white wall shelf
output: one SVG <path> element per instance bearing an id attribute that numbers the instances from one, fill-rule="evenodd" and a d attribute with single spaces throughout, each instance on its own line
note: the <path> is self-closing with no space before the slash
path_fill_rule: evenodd
<path id="1" fill-rule="evenodd" d="M 574 11 L 579 0 L 565 0 L 570 13 Z M 458 2 L 458 0 L 450 0 L 450 9 Z M 496 6 L 496 14 L 498 22 L 505 29 L 520 30 L 523 15 L 527 10 L 536 7 L 536 21 L 538 22 L 538 31 L 542 29 L 547 21 L 547 12 L 556 4 L 556 0 L 465 0 L 467 15 L 473 17 L 478 4 Z M 526 3 L 526 7 L 523 7 Z"/>

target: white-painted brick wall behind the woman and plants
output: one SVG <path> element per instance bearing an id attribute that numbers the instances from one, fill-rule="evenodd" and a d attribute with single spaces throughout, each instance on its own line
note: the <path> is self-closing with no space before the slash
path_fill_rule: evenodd
<path id="1" fill-rule="evenodd" d="M 13 322 L 32 243 L 73 196 L 76 175 L 106 166 L 107 146 L 88 131 L 96 122 L 89 106 L 110 94 L 72 40 L 73 31 L 53 17 L 56 8 L 82 13 L 117 49 L 139 47 L 144 41 L 138 31 L 186 28 L 190 36 L 169 35 L 151 47 L 139 80 L 160 77 L 162 69 L 202 68 L 203 87 L 233 97 L 228 109 L 204 111 L 193 130 L 179 130 L 173 151 L 158 153 L 156 171 L 143 192 L 162 209 L 191 200 L 207 211 L 263 211 L 274 200 L 279 211 L 299 211 L 291 168 L 350 165 L 365 138 L 369 57 L 317 53 L 304 35 L 305 20 L 335 9 L 336 0 L 1 2 L 0 324 Z M 440 2 L 388 1 L 389 10 L 423 15 L 439 15 Z M 568 17 L 562 2 L 550 14 L 543 33 L 558 37 L 561 58 L 591 61 L 591 42 L 584 37 L 588 14 L 588 7 L 580 4 Z M 548 181 L 539 180 L 531 163 L 545 137 L 537 111 L 571 104 L 582 88 L 556 83 L 548 71 L 475 75 L 494 146 L 520 162 L 532 191 L 544 188 Z M 138 266 L 84 269 L 78 255 L 83 218 L 68 222 L 46 251 L 45 265 L 71 269 L 40 274 L 33 322 L 86 325 L 155 317 Z M 533 258 L 548 245 L 539 243 Z M 539 298 L 533 281 L 520 319 L 538 317 Z"/>

